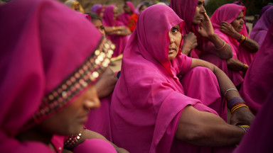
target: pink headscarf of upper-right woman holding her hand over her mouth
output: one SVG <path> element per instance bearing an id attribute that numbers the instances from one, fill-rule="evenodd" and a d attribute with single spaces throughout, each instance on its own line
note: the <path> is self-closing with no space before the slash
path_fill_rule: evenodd
<path id="1" fill-rule="evenodd" d="M 246 64 L 250 64 L 255 54 L 247 52 L 247 50 L 240 46 L 240 43 L 237 42 L 237 40 L 220 31 L 220 24 L 222 21 L 232 23 L 232 21 L 234 21 L 237 16 L 239 16 L 241 11 L 244 11 L 245 16 L 245 10 L 245 6 L 239 6 L 237 4 L 225 4 L 215 10 L 210 18 L 210 21 L 213 24 L 215 33 L 217 33 L 220 38 L 225 40 L 225 42 L 227 42 L 232 48 L 233 58 L 238 59 Z M 245 24 L 243 24 L 240 34 L 249 38 Z"/>

